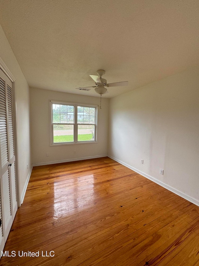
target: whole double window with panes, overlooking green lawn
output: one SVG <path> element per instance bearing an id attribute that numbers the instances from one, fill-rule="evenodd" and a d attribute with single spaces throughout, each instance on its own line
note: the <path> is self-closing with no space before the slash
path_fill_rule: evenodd
<path id="1" fill-rule="evenodd" d="M 52 144 L 96 142 L 97 106 L 50 100 Z"/>

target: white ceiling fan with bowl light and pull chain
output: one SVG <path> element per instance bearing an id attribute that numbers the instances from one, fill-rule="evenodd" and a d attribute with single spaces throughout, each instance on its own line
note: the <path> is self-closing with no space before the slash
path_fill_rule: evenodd
<path id="1" fill-rule="evenodd" d="M 102 94 L 108 93 L 107 88 L 105 87 L 116 87 L 116 86 L 127 86 L 128 81 L 122 81 L 122 82 L 114 82 L 114 83 L 107 83 L 105 79 L 102 79 L 102 75 L 105 74 L 105 71 L 100 69 L 97 70 L 97 75 L 90 75 L 90 77 L 95 81 L 95 86 L 90 87 L 83 87 L 83 88 L 76 88 L 80 90 L 90 90 L 89 88 L 95 88 L 96 93 L 100 94 L 102 97 Z M 101 100 L 100 100 L 100 109 L 101 109 Z"/>

